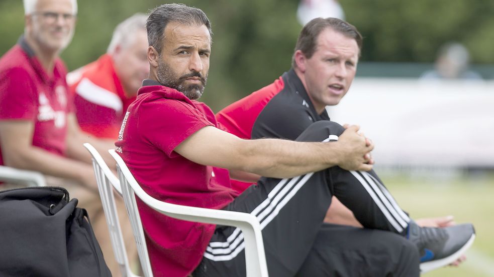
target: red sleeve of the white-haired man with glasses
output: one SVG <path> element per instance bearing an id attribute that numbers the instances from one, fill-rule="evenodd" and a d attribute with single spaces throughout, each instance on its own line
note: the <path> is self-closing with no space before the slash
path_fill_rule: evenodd
<path id="1" fill-rule="evenodd" d="M 32 77 L 23 68 L 11 68 L 3 75 L 0 78 L 0 119 L 35 119 L 38 99 Z"/>

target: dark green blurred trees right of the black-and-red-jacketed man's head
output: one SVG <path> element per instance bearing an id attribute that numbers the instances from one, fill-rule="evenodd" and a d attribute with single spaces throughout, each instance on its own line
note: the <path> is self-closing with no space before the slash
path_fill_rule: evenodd
<path id="1" fill-rule="evenodd" d="M 442 44 L 457 41 L 469 50 L 473 63 L 494 63 L 493 1 L 340 2 L 347 21 L 365 37 L 362 60 L 433 62 Z"/>

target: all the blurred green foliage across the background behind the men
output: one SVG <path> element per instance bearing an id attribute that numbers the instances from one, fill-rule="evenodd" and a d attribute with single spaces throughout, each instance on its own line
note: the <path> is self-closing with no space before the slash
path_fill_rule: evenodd
<path id="1" fill-rule="evenodd" d="M 290 67 L 302 26 L 298 0 L 183 1 L 213 24 L 211 70 L 203 100 L 215 111 L 276 79 Z M 474 63 L 494 63 L 494 2 L 485 0 L 340 0 L 365 37 L 361 61 L 433 62 L 448 41 L 463 43 Z M 62 53 L 74 70 L 106 51 L 115 26 L 156 0 L 80 0 L 76 33 Z M 0 0 L 0 55 L 23 32 L 21 0 Z M 494 73 L 493 73 L 494 75 Z"/>

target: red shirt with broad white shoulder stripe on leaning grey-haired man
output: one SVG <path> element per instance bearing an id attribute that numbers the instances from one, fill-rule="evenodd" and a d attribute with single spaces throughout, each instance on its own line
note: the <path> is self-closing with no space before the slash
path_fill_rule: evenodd
<path id="1" fill-rule="evenodd" d="M 115 139 L 125 111 L 136 99 L 125 95 L 109 54 L 67 75 L 80 128 L 96 137 Z"/>

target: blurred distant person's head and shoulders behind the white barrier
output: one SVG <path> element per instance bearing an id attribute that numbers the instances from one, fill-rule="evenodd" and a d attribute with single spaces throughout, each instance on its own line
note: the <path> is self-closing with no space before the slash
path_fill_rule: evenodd
<path id="1" fill-rule="evenodd" d="M 437 54 L 434 70 L 426 71 L 421 80 L 482 80 L 480 74 L 469 69 L 470 54 L 461 44 L 451 42 L 443 45 Z"/>

